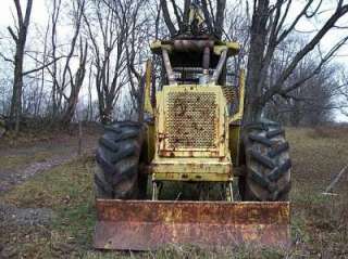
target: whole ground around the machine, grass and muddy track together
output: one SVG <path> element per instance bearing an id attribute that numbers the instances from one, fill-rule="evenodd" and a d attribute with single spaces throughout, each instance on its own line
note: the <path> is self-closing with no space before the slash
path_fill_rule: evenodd
<path id="1" fill-rule="evenodd" d="M 83 156 L 76 155 L 76 135 L 55 134 L 13 147 L 0 143 L 0 258 L 348 258 L 348 172 L 335 186 L 336 195 L 322 194 L 348 163 L 348 129 L 286 131 L 294 165 L 289 250 L 94 250 L 92 147 L 99 132 L 92 131 L 84 135 Z M 32 167 L 38 169 L 27 169 Z"/>

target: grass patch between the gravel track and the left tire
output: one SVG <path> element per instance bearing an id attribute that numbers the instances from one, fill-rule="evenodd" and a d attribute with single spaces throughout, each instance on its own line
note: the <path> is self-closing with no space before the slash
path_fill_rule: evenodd
<path id="1" fill-rule="evenodd" d="M 75 160 L 64 166 L 57 167 L 48 173 L 34 177 L 30 181 L 17 186 L 2 197 L 7 204 L 18 207 L 51 208 L 55 212 L 53 224 L 48 231 L 48 235 L 40 236 L 44 242 L 37 241 L 36 236 L 24 238 L 27 231 L 22 233 L 17 229 L 16 235 L 21 239 L 17 245 L 17 256 L 28 250 L 40 248 L 38 258 L 50 258 L 51 256 L 64 257 L 64 252 L 71 252 L 85 248 L 91 243 L 91 235 L 95 223 L 95 210 L 92 203 L 92 190 L 90 173 L 91 159 Z M 38 232 L 42 231 L 41 228 Z M 44 231 L 44 232 L 45 232 Z M 11 243 L 12 235 L 5 237 L 2 243 Z M 24 246 L 23 246 L 24 245 Z M 36 251 L 37 252 L 37 251 Z M 74 254 L 74 252 L 73 252 Z M 73 255 L 72 254 L 72 255 Z"/>

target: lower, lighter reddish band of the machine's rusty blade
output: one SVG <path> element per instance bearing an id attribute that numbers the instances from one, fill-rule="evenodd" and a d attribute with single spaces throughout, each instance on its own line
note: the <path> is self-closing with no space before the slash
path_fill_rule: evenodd
<path id="1" fill-rule="evenodd" d="M 288 225 L 216 225 L 103 222 L 97 223 L 95 247 L 99 249 L 152 250 L 165 245 L 231 248 L 241 244 L 287 248 Z"/>

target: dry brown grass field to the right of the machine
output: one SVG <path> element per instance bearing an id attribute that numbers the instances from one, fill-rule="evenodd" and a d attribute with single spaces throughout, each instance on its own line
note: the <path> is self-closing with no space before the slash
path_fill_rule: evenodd
<path id="1" fill-rule="evenodd" d="M 348 257 L 348 173 L 322 195 L 348 164 L 347 128 L 288 129 L 291 144 L 294 250 L 321 258 Z"/>

